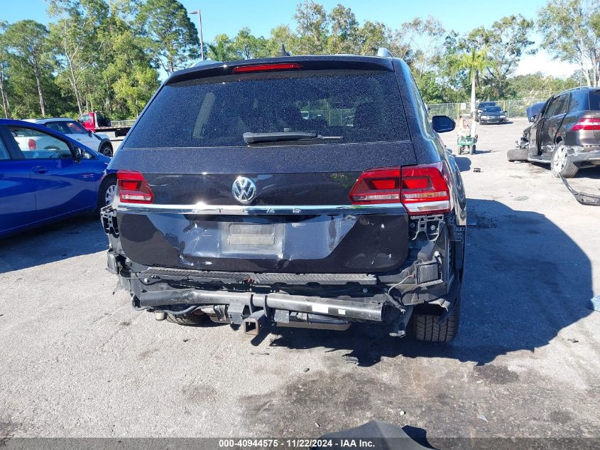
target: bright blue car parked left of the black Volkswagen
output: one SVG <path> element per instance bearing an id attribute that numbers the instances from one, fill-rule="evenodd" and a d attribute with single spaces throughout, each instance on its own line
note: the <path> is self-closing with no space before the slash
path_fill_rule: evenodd
<path id="1" fill-rule="evenodd" d="M 0 237 L 111 203 L 109 161 L 43 125 L 0 119 Z"/>

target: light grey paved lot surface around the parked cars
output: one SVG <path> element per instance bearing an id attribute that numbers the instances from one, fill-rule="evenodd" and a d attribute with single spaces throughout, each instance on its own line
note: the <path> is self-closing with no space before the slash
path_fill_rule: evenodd
<path id="1" fill-rule="evenodd" d="M 600 208 L 547 166 L 508 163 L 525 126 L 479 127 L 457 156 L 474 226 L 448 345 L 157 322 L 112 294 L 97 218 L 0 241 L 0 436 L 319 436 L 381 419 L 433 444 L 600 437 Z"/>

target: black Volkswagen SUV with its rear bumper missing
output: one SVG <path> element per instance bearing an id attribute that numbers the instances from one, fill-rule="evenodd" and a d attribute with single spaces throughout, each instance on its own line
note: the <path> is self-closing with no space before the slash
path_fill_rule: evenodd
<path id="1" fill-rule="evenodd" d="M 437 132 L 452 129 L 396 58 L 173 73 L 110 164 L 109 269 L 136 309 L 175 323 L 362 321 L 451 341 L 466 199 Z"/>

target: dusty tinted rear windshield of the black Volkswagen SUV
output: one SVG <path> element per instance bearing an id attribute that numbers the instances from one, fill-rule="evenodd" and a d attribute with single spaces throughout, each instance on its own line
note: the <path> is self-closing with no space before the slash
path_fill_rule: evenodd
<path id="1" fill-rule="evenodd" d="M 342 137 L 327 144 L 409 139 L 393 73 L 305 71 L 165 85 L 124 147 L 246 146 L 245 132 Z"/>

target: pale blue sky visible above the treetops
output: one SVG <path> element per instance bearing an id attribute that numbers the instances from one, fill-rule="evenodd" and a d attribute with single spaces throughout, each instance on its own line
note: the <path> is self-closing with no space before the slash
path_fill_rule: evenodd
<path id="1" fill-rule="evenodd" d="M 210 42 L 219 33 L 232 36 L 247 26 L 253 34 L 268 36 L 271 28 L 280 24 L 293 25 L 296 0 L 180 0 L 188 11 L 199 7 L 202 11 L 202 31 L 205 42 Z M 378 1 L 378 0 L 317 0 L 327 10 L 342 3 L 354 11 L 362 23 L 365 20 L 381 21 L 391 28 L 415 17 L 435 16 L 445 28 L 466 32 L 477 26 L 490 26 L 502 16 L 523 14 L 535 18 L 545 0 L 463 0 L 463 1 Z M 197 21 L 197 16 L 190 16 Z M 31 18 L 41 23 L 50 22 L 44 0 L 0 0 L 0 20 L 9 22 Z M 197 22 L 195 22 L 197 23 Z M 533 36 L 533 41 L 540 41 Z M 567 77 L 577 70 L 577 65 L 554 61 L 545 51 L 522 58 L 516 75 L 541 71 L 546 75 Z"/>

